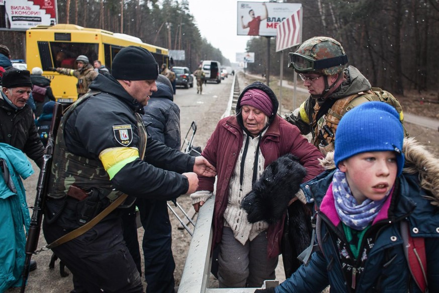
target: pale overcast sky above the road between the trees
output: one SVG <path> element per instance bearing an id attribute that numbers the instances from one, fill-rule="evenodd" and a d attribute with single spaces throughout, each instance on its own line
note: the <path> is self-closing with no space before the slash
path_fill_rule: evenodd
<path id="1" fill-rule="evenodd" d="M 252 0 L 251 2 L 266 2 Z M 235 62 L 236 53 L 245 52 L 248 36 L 236 35 L 237 0 L 189 0 L 201 36 Z"/>

